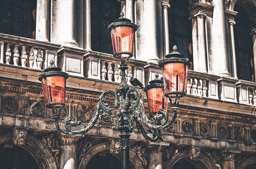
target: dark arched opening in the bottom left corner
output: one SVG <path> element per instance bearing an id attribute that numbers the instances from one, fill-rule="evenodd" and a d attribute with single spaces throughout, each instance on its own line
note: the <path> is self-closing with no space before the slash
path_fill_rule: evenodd
<path id="1" fill-rule="evenodd" d="M 39 169 L 33 156 L 20 146 L 5 148 L 0 146 L 0 168 L 12 169 L 15 166 L 15 161 L 20 169 Z"/>

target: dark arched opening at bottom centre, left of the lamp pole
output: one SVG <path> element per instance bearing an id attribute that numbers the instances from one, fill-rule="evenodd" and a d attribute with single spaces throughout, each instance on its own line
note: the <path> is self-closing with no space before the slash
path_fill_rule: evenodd
<path id="1" fill-rule="evenodd" d="M 99 152 L 87 163 L 85 169 L 120 169 L 121 161 L 114 155 Z"/>

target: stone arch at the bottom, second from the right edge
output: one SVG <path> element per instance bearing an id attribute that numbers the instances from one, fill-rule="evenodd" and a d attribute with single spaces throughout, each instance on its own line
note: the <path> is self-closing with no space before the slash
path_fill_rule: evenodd
<path id="1" fill-rule="evenodd" d="M 187 158 L 188 156 L 188 152 L 187 151 L 182 151 L 182 152 L 178 152 L 176 155 L 174 155 L 171 160 L 169 161 L 169 163 L 167 163 L 166 165 L 166 169 L 171 169 L 173 167 L 173 165 L 179 161 L 180 159 L 183 158 Z M 212 161 L 204 154 L 200 154 L 198 156 L 198 161 L 200 161 L 201 163 L 204 164 L 205 167 L 207 167 L 207 169 L 215 169 L 216 166 L 214 165 L 214 163 L 212 163 Z M 193 162 L 192 162 L 193 163 Z M 193 163 L 196 167 L 200 168 L 198 166 L 197 163 Z"/>

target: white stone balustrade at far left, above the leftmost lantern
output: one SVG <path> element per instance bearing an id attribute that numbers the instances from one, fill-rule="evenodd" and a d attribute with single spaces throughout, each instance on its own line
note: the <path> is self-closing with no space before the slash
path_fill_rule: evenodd
<path id="1" fill-rule="evenodd" d="M 44 69 L 52 59 L 57 65 L 59 45 L 34 39 L 0 34 L 0 63 L 24 68 Z"/>

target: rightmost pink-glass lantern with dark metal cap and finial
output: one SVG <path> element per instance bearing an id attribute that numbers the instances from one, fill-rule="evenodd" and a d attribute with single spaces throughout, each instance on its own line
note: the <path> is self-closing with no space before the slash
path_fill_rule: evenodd
<path id="1" fill-rule="evenodd" d="M 177 100 L 186 96 L 186 78 L 190 61 L 177 52 L 176 45 L 173 51 L 165 57 L 166 59 L 158 62 L 163 71 L 165 96 Z"/>

